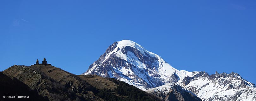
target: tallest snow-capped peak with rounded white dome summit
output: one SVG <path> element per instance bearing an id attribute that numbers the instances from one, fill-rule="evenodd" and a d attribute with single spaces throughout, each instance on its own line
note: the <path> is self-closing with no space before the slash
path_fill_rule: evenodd
<path id="1" fill-rule="evenodd" d="M 110 45 L 83 74 L 116 78 L 142 90 L 177 82 L 198 72 L 177 70 L 141 45 L 122 40 Z"/>

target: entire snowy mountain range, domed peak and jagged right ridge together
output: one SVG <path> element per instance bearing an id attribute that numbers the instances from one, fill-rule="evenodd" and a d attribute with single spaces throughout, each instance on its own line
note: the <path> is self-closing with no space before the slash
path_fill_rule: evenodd
<path id="1" fill-rule="evenodd" d="M 203 101 L 256 100 L 256 86 L 239 74 L 216 72 L 209 75 L 202 71 L 177 70 L 160 56 L 131 40 L 110 45 L 83 74 L 116 78 L 155 95 L 166 94 L 178 87 L 174 86 L 177 84 L 184 88 L 182 92 L 192 92 Z"/>

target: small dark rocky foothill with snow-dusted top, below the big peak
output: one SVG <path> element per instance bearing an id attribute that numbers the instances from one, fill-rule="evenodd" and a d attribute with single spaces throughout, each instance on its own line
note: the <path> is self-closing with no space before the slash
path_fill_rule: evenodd
<path id="1" fill-rule="evenodd" d="M 176 83 L 168 83 L 163 86 L 147 90 L 164 101 L 202 101 L 192 92 L 185 90 Z"/>

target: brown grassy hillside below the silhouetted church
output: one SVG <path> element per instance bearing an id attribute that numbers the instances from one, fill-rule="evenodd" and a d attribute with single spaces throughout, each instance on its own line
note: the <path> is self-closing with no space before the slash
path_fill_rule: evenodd
<path id="1" fill-rule="evenodd" d="M 4 70 L 3 74 L 23 82 L 50 101 L 160 101 L 136 87 L 123 86 L 125 82 L 96 75 L 74 75 L 51 65 L 14 65 Z M 133 93 L 129 93 L 130 89 Z"/>

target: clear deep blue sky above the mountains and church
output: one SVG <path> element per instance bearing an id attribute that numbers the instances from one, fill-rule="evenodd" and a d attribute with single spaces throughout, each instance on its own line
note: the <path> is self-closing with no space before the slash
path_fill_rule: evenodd
<path id="1" fill-rule="evenodd" d="M 174 68 L 239 73 L 256 83 L 255 0 L 1 0 L 0 70 L 48 63 L 82 74 L 115 41 Z"/>

